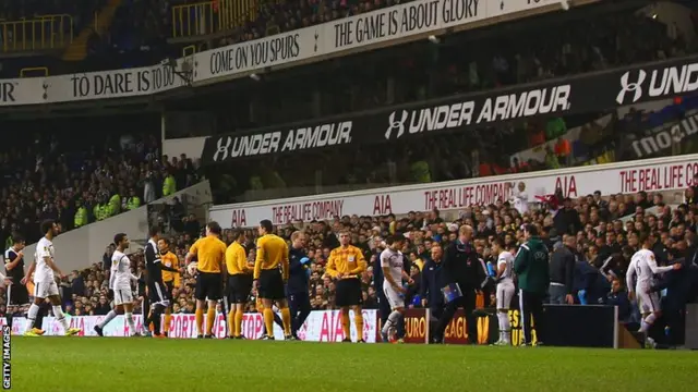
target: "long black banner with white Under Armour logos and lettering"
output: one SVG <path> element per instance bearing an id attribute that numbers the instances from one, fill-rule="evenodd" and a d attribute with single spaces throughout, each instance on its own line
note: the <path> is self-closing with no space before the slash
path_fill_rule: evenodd
<path id="1" fill-rule="evenodd" d="M 462 132 L 538 115 L 606 111 L 696 89 L 698 58 L 684 58 L 315 120 L 294 126 L 212 136 L 204 143 L 202 161 L 212 164 L 273 154 L 392 143 L 405 137 Z"/>

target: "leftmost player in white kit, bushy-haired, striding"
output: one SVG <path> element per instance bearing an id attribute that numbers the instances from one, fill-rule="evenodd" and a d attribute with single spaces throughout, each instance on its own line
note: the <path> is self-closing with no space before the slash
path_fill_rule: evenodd
<path id="1" fill-rule="evenodd" d="M 29 306 L 29 311 L 26 316 L 24 334 L 38 336 L 32 331 L 32 328 L 34 327 L 36 315 L 39 313 L 39 305 L 44 299 L 48 298 L 51 302 L 53 317 L 56 317 L 56 321 L 63 326 L 65 335 L 74 335 L 80 333 L 81 329 L 70 328 L 61 308 L 61 297 L 58 294 L 58 284 L 56 283 L 56 275 L 61 280 L 65 279 L 63 272 L 56 265 L 56 249 L 53 248 L 53 238 L 60 233 L 60 228 L 56 221 L 47 219 L 41 222 L 41 233 L 44 233 L 44 236 L 36 244 L 34 261 L 26 273 L 27 277 L 32 277 L 32 273 L 34 273 L 34 303 Z"/>

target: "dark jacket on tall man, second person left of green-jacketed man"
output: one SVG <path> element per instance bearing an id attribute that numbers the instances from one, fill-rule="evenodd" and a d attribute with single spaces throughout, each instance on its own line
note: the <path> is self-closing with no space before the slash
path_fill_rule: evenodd
<path id="1" fill-rule="evenodd" d="M 442 283 L 445 286 L 458 283 L 460 291 L 480 290 L 485 274 L 478 259 L 474 247 L 455 241 L 446 246 L 444 252 Z"/>

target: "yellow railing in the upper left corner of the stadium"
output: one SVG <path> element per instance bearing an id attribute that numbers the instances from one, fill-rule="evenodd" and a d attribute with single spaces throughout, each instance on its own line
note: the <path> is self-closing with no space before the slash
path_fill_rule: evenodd
<path id="1" fill-rule="evenodd" d="M 40 15 L 32 20 L 0 22 L 2 52 L 60 49 L 73 40 L 73 17 Z"/>

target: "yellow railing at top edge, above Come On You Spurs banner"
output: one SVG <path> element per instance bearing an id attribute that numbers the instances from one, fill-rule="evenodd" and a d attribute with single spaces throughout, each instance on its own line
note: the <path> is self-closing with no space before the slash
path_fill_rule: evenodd
<path id="1" fill-rule="evenodd" d="M 213 0 L 172 7 L 172 38 L 233 29 L 256 16 L 258 0 Z"/>

